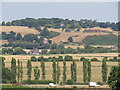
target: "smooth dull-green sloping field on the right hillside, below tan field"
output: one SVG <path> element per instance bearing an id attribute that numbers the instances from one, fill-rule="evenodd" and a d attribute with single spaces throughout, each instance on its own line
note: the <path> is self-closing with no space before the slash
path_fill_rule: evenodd
<path id="1" fill-rule="evenodd" d="M 82 40 L 82 43 L 87 45 L 117 45 L 118 37 L 112 34 L 87 36 Z"/>

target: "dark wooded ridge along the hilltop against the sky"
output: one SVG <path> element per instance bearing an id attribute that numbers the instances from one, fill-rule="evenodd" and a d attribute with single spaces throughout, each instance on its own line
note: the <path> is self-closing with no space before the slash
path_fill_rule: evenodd
<path id="1" fill-rule="evenodd" d="M 69 20 L 61 18 L 25 18 L 20 20 L 13 20 L 11 22 L 2 22 L 2 26 L 27 26 L 29 28 L 35 27 L 40 30 L 40 26 L 46 28 L 62 28 L 62 29 L 80 29 L 80 28 L 92 28 L 92 27 L 111 27 L 113 30 L 118 30 L 118 23 L 110 22 L 98 22 L 96 20 Z"/>

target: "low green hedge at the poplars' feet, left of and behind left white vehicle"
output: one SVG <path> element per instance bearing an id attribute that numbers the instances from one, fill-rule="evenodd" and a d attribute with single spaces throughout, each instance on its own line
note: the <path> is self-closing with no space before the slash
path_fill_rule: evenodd
<path id="1" fill-rule="evenodd" d="M 52 82 L 53 81 L 50 81 L 50 80 L 23 80 L 21 83 L 22 84 L 49 84 Z"/>

